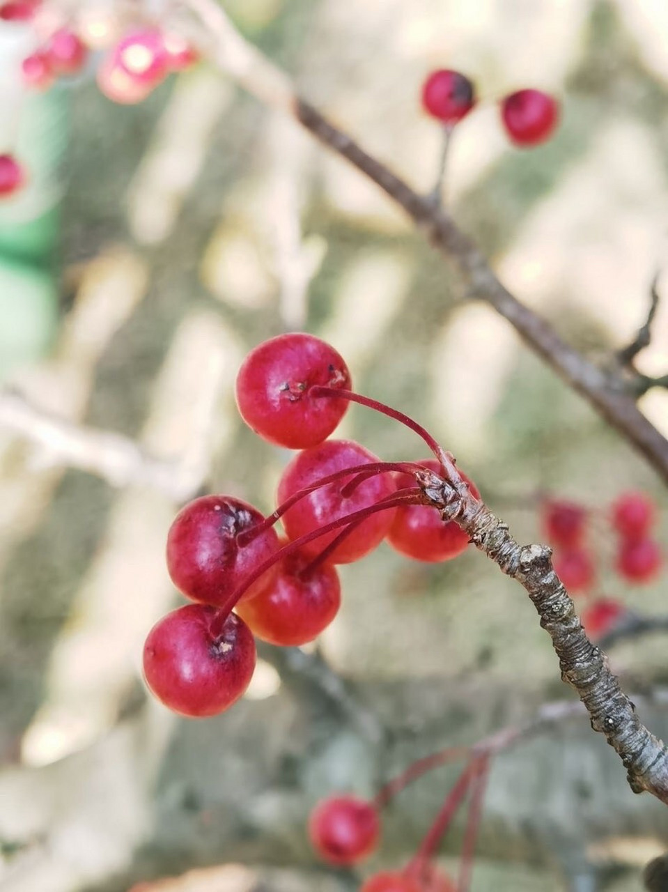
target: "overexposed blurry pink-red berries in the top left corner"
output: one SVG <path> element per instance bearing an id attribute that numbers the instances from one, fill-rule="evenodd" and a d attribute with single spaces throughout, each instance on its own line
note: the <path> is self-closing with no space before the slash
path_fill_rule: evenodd
<path id="1" fill-rule="evenodd" d="M 0 3 L 0 21 L 34 21 L 37 48 L 21 62 L 29 89 L 46 90 L 57 78 L 71 77 L 87 63 L 89 49 L 77 29 L 62 25 L 42 36 L 41 0 Z M 111 32 L 110 32 L 111 33 Z M 107 47 L 97 67 L 97 84 L 116 103 L 142 102 L 171 72 L 197 61 L 194 47 L 176 32 L 145 25 L 128 31 Z M 27 181 L 24 166 L 12 153 L 0 154 L 0 199 L 17 193 Z"/>

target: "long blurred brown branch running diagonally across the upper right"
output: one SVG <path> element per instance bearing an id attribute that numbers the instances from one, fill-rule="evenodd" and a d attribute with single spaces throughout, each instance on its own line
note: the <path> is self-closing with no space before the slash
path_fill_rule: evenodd
<path id="1" fill-rule="evenodd" d="M 220 70 L 235 78 L 260 102 L 293 117 L 319 142 L 350 161 L 399 204 L 434 247 L 458 268 L 469 292 L 487 301 L 507 318 L 532 350 L 566 384 L 589 401 L 599 415 L 623 434 L 668 482 L 668 441 L 639 411 L 635 400 L 625 390 L 622 376 L 597 368 L 565 343 L 545 319 L 508 292 L 474 241 L 455 225 L 446 211 L 434 207 L 428 196 L 417 194 L 342 129 L 301 99 L 285 72 L 243 39 L 219 4 L 213 0 L 186 0 L 186 3 L 202 21 L 206 30 L 202 40 L 210 46 L 210 58 Z"/>

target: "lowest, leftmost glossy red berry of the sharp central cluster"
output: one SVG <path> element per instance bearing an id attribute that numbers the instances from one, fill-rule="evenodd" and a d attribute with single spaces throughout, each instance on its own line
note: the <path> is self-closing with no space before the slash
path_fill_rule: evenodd
<path id="1" fill-rule="evenodd" d="M 188 604 L 153 626 L 144 644 L 144 678 L 161 703 L 175 713 L 202 718 L 232 706 L 255 668 L 255 642 L 248 626 L 230 614 L 214 637 L 215 607 Z"/>

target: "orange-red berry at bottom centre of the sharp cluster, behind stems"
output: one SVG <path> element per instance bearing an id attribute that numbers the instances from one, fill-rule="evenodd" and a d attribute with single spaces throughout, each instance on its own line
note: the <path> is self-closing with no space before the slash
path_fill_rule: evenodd
<path id="1" fill-rule="evenodd" d="M 341 583 L 334 566 L 321 564 L 304 573 L 312 558 L 289 554 L 276 577 L 236 612 L 252 633 L 269 644 L 297 647 L 318 638 L 341 607 Z"/>

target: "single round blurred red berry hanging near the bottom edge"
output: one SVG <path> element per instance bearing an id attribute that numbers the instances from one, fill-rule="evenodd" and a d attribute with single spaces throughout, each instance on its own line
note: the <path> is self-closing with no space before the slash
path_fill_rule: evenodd
<path id="1" fill-rule="evenodd" d="M 322 799 L 310 814 L 309 838 L 327 863 L 358 863 L 378 846 L 380 822 L 375 805 L 356 796 Z"/>

